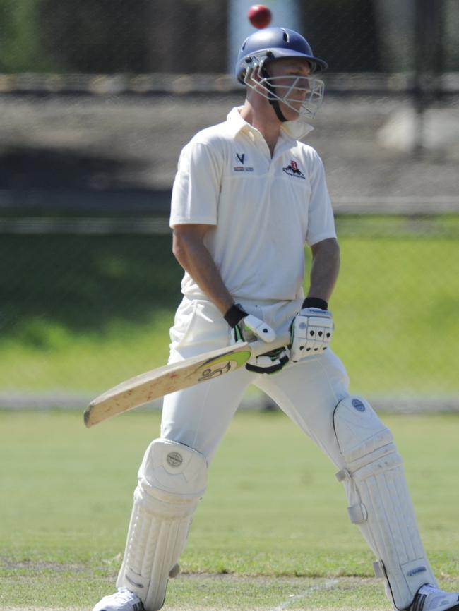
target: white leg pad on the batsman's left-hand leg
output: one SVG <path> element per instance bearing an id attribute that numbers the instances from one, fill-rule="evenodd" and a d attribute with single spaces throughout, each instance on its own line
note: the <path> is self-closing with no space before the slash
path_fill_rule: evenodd
<path id="1" fill-rule="evenodd" d="M 205 457 L 183 444 L 158 439 L 145 452 L 117 586 L 136 593 L 146 611 L 164 604 L 206 476 Z"/>

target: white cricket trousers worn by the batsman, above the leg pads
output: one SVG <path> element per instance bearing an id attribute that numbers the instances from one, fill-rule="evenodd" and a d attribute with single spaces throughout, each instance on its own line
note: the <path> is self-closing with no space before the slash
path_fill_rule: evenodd
<path id="1" fill-rule="evenodd" d="M 287 302 L 240 300 L 244 309 L 276 332 L 286 333 L 302 299 Z M 171 331 L 169 363 L 229 345 L 231 331 L 210 301 L 184 298 Z M 267 351 L 269 344 L 266 344 Z M 254 384 L 268 394 L 306 435 L 342 468 L 333 430 L 333 411 L 347 394 L 348 377 L 330 349 L 320 356 L 289 363 L 279 373 L 253 373 L 246 368 L 168 394 L 162 409 L 161 437 L 213 458 L 246 388 Z"/>

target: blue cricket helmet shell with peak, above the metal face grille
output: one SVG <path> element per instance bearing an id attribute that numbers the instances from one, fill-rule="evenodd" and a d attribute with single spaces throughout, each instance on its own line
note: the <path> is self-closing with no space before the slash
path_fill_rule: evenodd
<path id="1" fill-rule="evenodd" d="M 311 64 L 311 72 L 323 72 L 326 61 L 314 56 L 309 42 L 301 34 L 287 28 L 263 28 L 251 34 L 239 49 L 236 78 L 244 83 L 245 71 L 256 63 L 265 63 L 283 57 L 304 57 Z"/>

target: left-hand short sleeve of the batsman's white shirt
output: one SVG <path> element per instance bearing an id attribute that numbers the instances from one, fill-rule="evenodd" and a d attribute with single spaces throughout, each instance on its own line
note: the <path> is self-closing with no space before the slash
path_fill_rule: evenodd
<path id="1" fill-rule="evenodd" d="M 191 140 L 179 157 L 169 225 L 216 225 L 220 176 L 220 162 L 214 147 Z"/>

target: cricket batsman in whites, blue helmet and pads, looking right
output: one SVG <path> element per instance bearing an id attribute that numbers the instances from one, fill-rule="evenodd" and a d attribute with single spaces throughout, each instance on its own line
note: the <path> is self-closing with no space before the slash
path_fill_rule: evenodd
<path id="1" fill-rule="evenodd" d="M 167 395 L 160 437 L 138 471 L 117 593 L 94 611 L 157 611 L 179 571 L 191 518 L 225 430 L 251 384 L 266 392 L 333 461 L 350 521 L 376 557 L 396 610 L 459 611 L 422 546 L 400 454 L 364 397 L 350 395 L 330 350 L 328 303 L 339 248 L 323 164 L 302 143 L 327 67 L 299 33 L 266 28 L 239 50 L 244 105 L 197 133 L 179 159 L 170 225 L 184 268 L 169 363 L 261 339 L 245 368 Z M 303 292 L 304 247 L 311 249 Z M 290 332 L 290 346 L 270 349 Z"/>

